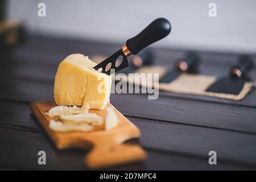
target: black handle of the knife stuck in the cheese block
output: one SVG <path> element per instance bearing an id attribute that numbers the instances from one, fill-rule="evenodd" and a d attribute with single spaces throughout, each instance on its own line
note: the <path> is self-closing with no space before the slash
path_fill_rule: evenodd
<path id="1" fill-rule="evenodd" d="M 126 46 L 133 55 L 136 55 L 143 48 L 165 38 L 170 32 L 171 23 L 167 19 L 158 18 L 150 23 L 141 33 L 126 40 Z"/>

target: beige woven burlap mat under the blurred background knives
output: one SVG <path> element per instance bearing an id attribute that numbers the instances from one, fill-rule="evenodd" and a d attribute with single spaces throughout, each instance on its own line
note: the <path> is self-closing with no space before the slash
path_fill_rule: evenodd
<path id="1" fill-rule="evenodd" d="M 158 66 L 142 67 L 139 68 L 135 73 L 159 73 L 159 78 L 166 73 L 166 68 Z M 115 76 L 115 80 L 127 81 L 133 84 L 139 84 L 141 86 L 147 87 L 148 84 L 152 85 L 152 82 L 148 82 L 145 78 L 134 79 L 134 77 L 126 77 L 122 75 Z M 174 93 L 184 93 L 184 94 L 196 94 L 200 96 L 210 96 L 225 98 L 229 100 L 242 100 L 245 96 L 256 86 L 253 82 L 246 82 L 241 90 L 240 94 L 225 94 L 225 93 L 214 93 L 214 92 L 205 92 L 205 90 L 216 81 L 214 76 L 205 76 L 205 75 L 193 75 L 188 73 L 183 73 L 176 80 L 170 83 L 155 83 L 153 80 L 154 87 L 158 87 L 159 90 L 164 90 L 167 92 Z"/>

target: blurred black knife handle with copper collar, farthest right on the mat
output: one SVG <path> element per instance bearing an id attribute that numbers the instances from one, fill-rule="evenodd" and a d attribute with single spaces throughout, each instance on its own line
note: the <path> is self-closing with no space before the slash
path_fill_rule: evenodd
<path id="1" fill-rule="evenodd" d="M 251 59 L 250 56 L 242 55 L 238 60 L 238 64 L 233 65 L 230 68 L 229 73 L 230 73 L 230 76 L 232 77 L 245 78 L 248 72 L 251 71 L 251 69 L 253 69 L 253 67 L 254 67 L 253 59 Z"/>

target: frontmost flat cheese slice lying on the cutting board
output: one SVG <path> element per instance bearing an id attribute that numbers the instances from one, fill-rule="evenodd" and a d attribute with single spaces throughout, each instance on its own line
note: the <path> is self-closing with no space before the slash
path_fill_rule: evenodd
<path id="1" fill-rule="evenodd" d="M 95 113 L 60 115 L 60 120 L 63 123 L 68 123 L 73 125 L 88 123 L 88 124 L 91 124 L 92 126 L 100 126 L 103 124 L 103 118 Z"/>

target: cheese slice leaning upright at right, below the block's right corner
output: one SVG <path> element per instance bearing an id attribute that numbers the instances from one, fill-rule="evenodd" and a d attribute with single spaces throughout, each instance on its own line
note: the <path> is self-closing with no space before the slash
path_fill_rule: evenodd
<path id="1" fill-rule="evenodd" d="M 107 107 L 107 115 L 105 118 L 105 130 L 111 130 L 117 126 L 119 119 L 117 114 L 115 114 L 115 110 L 112 107 Z"/>

